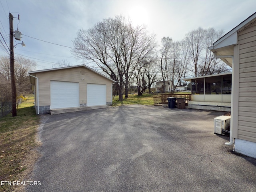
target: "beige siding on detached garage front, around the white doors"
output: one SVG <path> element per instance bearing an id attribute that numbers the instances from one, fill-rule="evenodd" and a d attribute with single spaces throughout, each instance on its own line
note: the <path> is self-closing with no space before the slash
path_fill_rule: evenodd
<path id="1" fill-rule="evenodd" d="M 81 71 L 85 74 L 81 74 Z M 79 103 L 86 103 L 87 83 L 106 84 L 106 102 L 111 102 L 112 82 L 84 67 L 67 68 L 36 73 L 39 78 L 39 106 L 50 105 L 50 81 L 67 81 L 79 83 Z"/>

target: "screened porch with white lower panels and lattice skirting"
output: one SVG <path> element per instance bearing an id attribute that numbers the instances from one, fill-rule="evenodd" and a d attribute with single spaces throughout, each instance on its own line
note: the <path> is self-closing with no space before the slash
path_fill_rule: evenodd
<path id="1" fill-rule="evenodd" d="M 188 108 L 216 111 L 231 110 L 232 73 L 183 79 L 191 82 Z"/>

